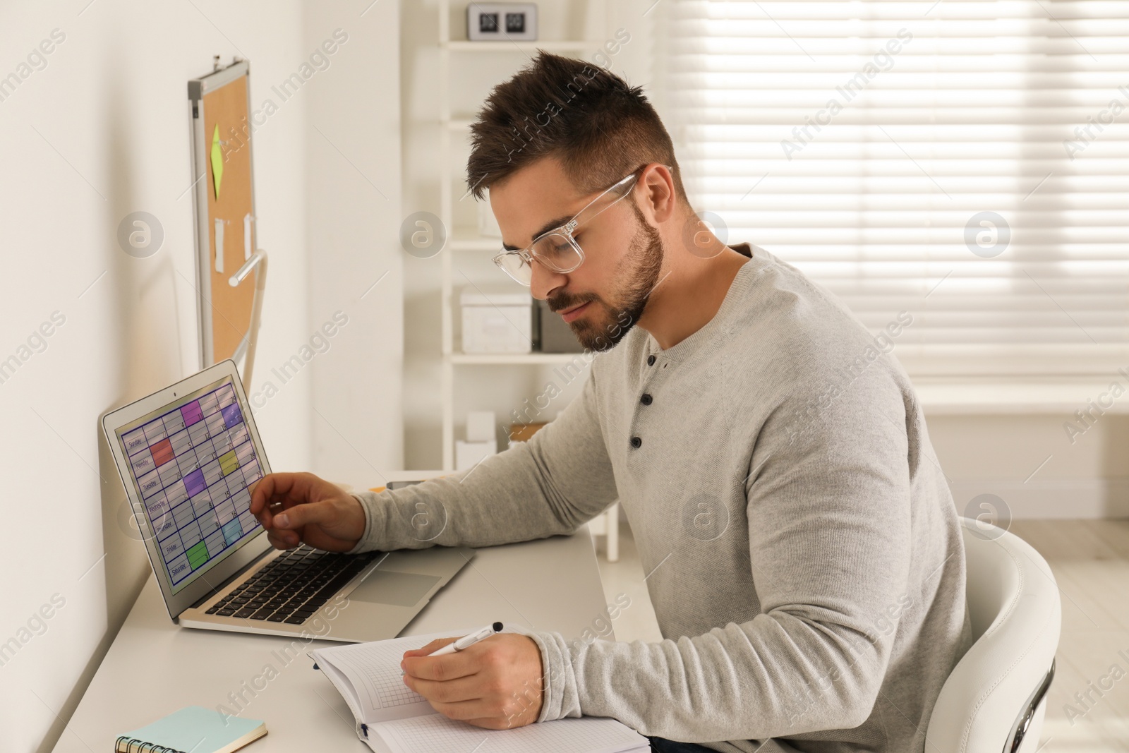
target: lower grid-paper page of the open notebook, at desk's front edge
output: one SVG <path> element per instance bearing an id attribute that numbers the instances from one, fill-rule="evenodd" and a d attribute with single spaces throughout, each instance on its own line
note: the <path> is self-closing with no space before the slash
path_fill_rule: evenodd
<path id="1" fill-rule="evenodd" d="M 646 737 L 615 719 L 581 717 L 516 729 L 482 729 L 439 713 L 369 727 L 392 753 L 620 753 L 647 751 Z"/>

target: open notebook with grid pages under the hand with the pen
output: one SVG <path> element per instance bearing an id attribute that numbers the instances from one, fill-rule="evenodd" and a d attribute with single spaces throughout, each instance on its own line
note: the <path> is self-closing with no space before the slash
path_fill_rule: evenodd
<path id="1" fill-rule="evenodd" d="M 628 753 L 648 751 L 646 737 L 603 717 L 482 729 L 437 712 L 400 674 L 404 651 L 435 638 L 465 636 L 478 628 L 345 643 L 308 651 L 357 719 L 357 736 L 376 753 Z M 524 632 L 507 625 L 502 632 Z"/>

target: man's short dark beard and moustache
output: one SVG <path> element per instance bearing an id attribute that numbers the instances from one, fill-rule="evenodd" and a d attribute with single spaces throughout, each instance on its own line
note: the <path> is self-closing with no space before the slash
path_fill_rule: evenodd
<path id="1" fill-rule="evenodd" d="M 647 225 L 634 202 L 630 204 L 637 219 L 636 233 L 631 237 L 628 253 L 615 270 L 615 279 L 627 282 L 616 291 L 614 303 L 609 304 L 595 294 L 561 294 L 548 301 L 553 312 L 592 303 L 584 316 L 568 323 L 585 350 L 604 351 L 614 348 L 642 316 L 650 294 L 658 284 L 665 253 L 663 238 L 657 229 Z"/>

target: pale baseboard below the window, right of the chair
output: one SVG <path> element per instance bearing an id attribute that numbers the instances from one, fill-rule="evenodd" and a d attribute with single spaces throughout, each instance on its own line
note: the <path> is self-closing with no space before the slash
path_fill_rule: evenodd
<path id="1" fill-rule="evenodd" d="M 949 485 L 956 509 L 968 517 L 995 515 L 1013 520 L 1034 518 L 1129 517 L 1129 479 L 1078 481 L 954 481 Z M 980 494 L 995 494 L 977 499 Z M 987 505 L 988 507 L 983 507 Z M 999 510 L 990 508 L 1001 507 Z"/>

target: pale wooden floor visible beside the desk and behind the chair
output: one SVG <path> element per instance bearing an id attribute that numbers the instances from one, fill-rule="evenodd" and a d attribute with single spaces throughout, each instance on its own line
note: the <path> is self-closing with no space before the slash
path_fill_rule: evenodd
<path id="1" fill-rule="evenodd" d="M 1010 531 L 1047 558 L 1062 595 L 1039 753 L 1129 753 L 1129 520 L 1014 520 Z M 607 603 L 630 598 L 615 639 L 662 640 L 630 528 L 621 524 L 618 562 L 602 542 L 597 551 Z M 1091 700 L 1075 698 L 1087 691 Z"/>

